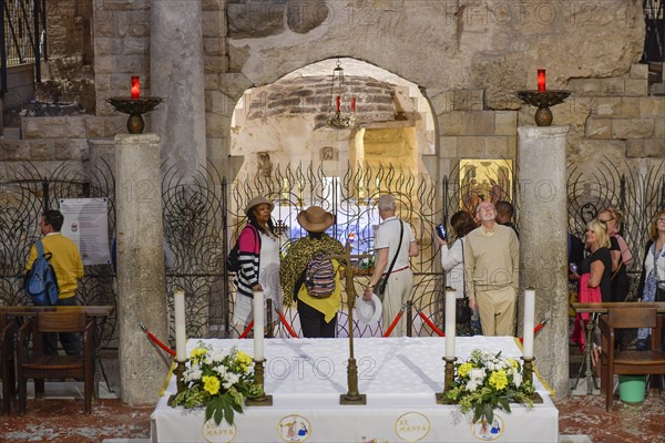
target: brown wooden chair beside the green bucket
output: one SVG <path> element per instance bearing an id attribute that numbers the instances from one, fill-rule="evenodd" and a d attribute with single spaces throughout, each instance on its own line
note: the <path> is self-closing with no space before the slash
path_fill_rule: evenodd
<path id="1" fill-rule="evenodd" d="M 602 334 L 602 377 L 606 395 L 607 411 L 614 400 L 614 374 L 665 374 L 665 352 L 661 349 L 661 333 L 664 316 L 658 316 L 654 308 L 610 308 L 606 316 L 601 316 L 598 326 Z M 652 350 L 635 351 L 615 350 L 616 329 L 651 328 Z M 658 379 L 656 379 L 658 380 Z M 655 389 L 655 385 L 652 385 Z"/>

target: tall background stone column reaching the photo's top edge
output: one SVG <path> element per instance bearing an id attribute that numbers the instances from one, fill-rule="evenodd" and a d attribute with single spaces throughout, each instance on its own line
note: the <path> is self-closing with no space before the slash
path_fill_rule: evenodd
<path id="1" fill-rule="evenodd" d="M 151 114 L 162 161 L 192 177 L 206 164 L 201 1 L 151 3 L 151 95 L 164 99 Z"/>

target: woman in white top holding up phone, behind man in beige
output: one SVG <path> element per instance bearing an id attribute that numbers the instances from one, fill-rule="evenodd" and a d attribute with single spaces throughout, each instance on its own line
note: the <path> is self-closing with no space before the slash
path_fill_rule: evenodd
<path id="1" fill-rule="evenodd" d="M 464 287 L 464 236 L 477 228 L 475 220 L 466 210 L 458 210 L 450 217 L 450 225 L 454 231 L 456 240 L 448 248 L 448 240 L 437 236 L 441 246 L 441 266 L 446 271 L 446 285 L 457 292 L 457 298 L 467 298 Z M 474 336 L 482 333 L 478 309 L 473 310 L 469 324 L 460 324 L 458 319 L 457 332 L 460 336 Z"/>

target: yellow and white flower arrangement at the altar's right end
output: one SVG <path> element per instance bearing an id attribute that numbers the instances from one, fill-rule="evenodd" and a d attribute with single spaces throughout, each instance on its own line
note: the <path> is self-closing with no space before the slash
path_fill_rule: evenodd
<path id="1" fill-rule="evenodd" d="M 448 399 L 457 401 L 462 413 L 473 410 L 473 423 L 484 418 L 494 420 L 494 409 L 510 411 L 510 403 L 533 408 L 531 381 L 522 379 L 522 367 L 514 360 L 480 349 L 471 351 L 469 360 L 456 364 Z"/>

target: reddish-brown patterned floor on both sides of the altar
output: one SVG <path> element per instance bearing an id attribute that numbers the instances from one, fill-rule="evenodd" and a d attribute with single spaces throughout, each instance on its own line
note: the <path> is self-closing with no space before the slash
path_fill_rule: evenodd
<path id="1" fill-rule="evenodd" d="M 14 409 L 10 416 L 0 418 L 0 442 L 147 442 L 152 406 L 130 408 L 116 399 L 98 399 L 92 415 L 85 416 L 80 389 L 80 383 L 48 383 L 49 398 L 29 400 L 24 416 L 17 416 Z M 556 402 L 561 443 L 665 442 L 665 394 L 648 395 L 635 405 L 616 402 L 606 412 L 600 394 L 580 393 L 585 393 L 583 384 Z M 101 394 L 112 396 L 103 390 Z"/>

